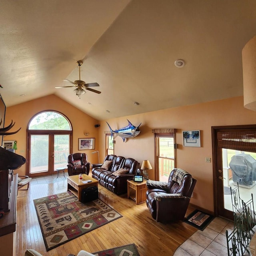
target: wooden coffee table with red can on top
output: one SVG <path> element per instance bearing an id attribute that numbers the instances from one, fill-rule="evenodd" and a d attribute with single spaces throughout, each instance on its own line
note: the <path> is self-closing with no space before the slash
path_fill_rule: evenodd
<path id="1" fill-rule="evenodd" d="M 68 190 L 72 192 L 78 201 L 82 201 L 82 190 L 88 187 L 98 187 L 98 180 L 83 174 L 82 180 L 79 179 L 79 175 L 72 175 L 67 177 L 68 180 Z M 91 180 L 92 182 L 84 183 L 86 180 Z"/>

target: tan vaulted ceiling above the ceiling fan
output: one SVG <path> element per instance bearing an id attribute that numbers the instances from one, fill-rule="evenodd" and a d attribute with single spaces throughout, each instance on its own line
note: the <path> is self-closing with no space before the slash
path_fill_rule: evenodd
<path id="1" fill-rule="evenodd" d="M 256 35 L 255 0 L 1 0 L 0 6 L 6 106 L 56 94 L 105 120 L 243 94 L 241 53 Z M 179 58 L 183 68 L 174 66 Z M 71 85 L 62 79 L 78 80 L 78 60 L 81 80 L 98 82 L 101 94 L 87 90 L 79 99 L 74 88 L 54 88 Z"/>

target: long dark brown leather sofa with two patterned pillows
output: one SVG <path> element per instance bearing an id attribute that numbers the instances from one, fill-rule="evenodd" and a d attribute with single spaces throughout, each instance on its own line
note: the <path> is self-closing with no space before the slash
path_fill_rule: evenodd
<path id="1" fill-rule="evenodd" d="M 106 163 L 108 163 L 108 166 L 106 166 Z M 107 155 L 104 164 L 92 164 L 92 178 L 98 180 L 102 186 L 115 194 L 124 194 L 127 192 L 127 180 L 133 178 L 139 165 L 138 161 L 133 158 Z M 118 170 L 120 172 L 125 170 L 126 173 L 114 173 Z"/>

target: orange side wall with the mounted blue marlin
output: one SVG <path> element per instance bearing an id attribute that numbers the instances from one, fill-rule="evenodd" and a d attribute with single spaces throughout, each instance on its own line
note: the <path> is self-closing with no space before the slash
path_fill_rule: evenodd
<path id="1" fill-rule="evenodd" d="M 139 107 L 139 106 L 138 106 Z M 218 100 L 192 106 L 170 108 L 134 116 L 124 116 L 106 120 L 113 130 L 126 126 L 127 120 L 140 126 L 140 134 L 136 138 L 123 142 L 122 138 L 115 138 L 114 152 L 116 155 L 132 157 L 140 163 L 148 159 L 154 168 L 154 134 L 151 130 L 156 128 L 176 128 L 176 165 L 187 170 L 197 179 L 192 204 L 214 210 L 213 204 L 213 167 L 212 162 L 206 163 L 205 158 L 212 158 L 212 126 L 255 124 L 256 113 L 243 107 L 243 97 Z M 99 151 L 103 160 L 105 152 L 104 131 L 109 128 L 105 121 L 100 122 Z M 200 130 L 201 147 L 184 147 L 182 140 L 183 130 Z M 154 171 L 150 173 L 154 179 Z"/>

